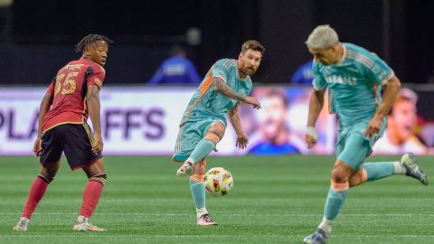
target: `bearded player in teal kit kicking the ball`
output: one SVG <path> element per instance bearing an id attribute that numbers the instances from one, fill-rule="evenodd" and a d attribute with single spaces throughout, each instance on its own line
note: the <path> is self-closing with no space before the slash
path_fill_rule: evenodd
<path id="1" fill-rule="evenodd" d="M 237 134 L 236 145 L 244 149 L 249 142 L 241 126 L 238 106 L 245 102 L 260 108 L 258 99 L 249 96 L 250 76 L 258 70 L 264 50 L 262 44 L 250 40 L 242 44 L 238 60 L 216 61 L 185 109 L 173 159 L 184 163 L 176 174 L 190 176 L 198 225 L 217 224 L 205 208 L 203 178 L 205 157 L 215 150 L 224 135 L 226 114 Z"/>

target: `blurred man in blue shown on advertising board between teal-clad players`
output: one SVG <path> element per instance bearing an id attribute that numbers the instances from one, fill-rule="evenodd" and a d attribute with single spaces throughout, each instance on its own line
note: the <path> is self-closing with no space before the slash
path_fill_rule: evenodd
<path id="1" fill-rule="evenodd" d="M 253 145 L 249 153 L 252 155 L 289 155 L 298 154 L 300 150 L 290 138 L 287 127 L 288 99 L 278 89 L 270 89 L 260 99 L 259 109 L 259 142 Z"/>

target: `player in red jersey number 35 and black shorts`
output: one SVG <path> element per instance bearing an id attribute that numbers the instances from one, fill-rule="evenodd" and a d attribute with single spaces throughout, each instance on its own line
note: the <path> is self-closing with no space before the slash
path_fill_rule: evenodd
<path id="1" fill-rule="evenodd" d="M 85 36 L 77 45 L 80 60 L 70 61 L 57 72 L 42 99 L 38 136 L 33 152 L 40 156 L 41 173 L 34 180 L 15 231 L 26 231 L 33 211 L 41 201 L 61 166 L 63 152 L 72 170 L 83 169 L 89 178 L 75 231 L 105 231 L 90 224 L 99 202 L 107 174 L 101 151 L 103 142 L 99 119 L 99 89 L 105 78 L 109 38 L 99 34 Z M 90 116 L 94 135 L 87 118 Z"/>

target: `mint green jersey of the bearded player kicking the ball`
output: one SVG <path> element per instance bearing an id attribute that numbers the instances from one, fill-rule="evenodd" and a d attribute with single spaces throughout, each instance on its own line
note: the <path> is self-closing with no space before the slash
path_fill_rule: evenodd
<path id="1" fill-rule="evenodd" d="M 247 76 L 244 80 L 240 79 L 236 60 L 222 59 L 216 61 L 188 103 L 181 125 L 187 121 L 198 121 L 210 117 L 226 123 L 226 114 L 240 101 L 229 99 L 215 91 L 212 87 L 212 79 L 215 77 L 222 78 L 237 93 L 246 96 L 250 94 L 252 87 L 250 77 Z"/>

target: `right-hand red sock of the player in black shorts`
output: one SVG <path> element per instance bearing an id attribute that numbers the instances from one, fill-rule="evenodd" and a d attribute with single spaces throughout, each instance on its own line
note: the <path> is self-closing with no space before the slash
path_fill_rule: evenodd
<path id="1" fill-rule="evenodd" d="M 90 219 L 93 211 L 97 207 L 99 202 L 99 197 L 101 196 L 104 184 L 96 181 L 90 180 L 83 194 L 83 203 L 81 204 L 80 215 Z"/>

